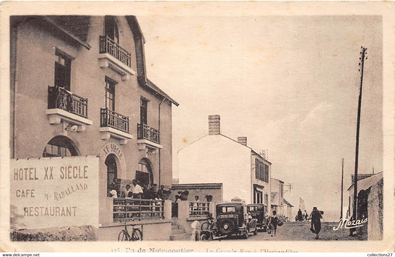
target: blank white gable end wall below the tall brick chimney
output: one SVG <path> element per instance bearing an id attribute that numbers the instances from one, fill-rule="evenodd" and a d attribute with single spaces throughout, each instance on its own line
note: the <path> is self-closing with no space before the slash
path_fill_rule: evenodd
<path id="1" fill-rule="evenodd" d="M 223 199 L 251 199 L 251 149 L 222 135 L 207 135 L 181 149 L 179 183 L 222 183 Z"/>

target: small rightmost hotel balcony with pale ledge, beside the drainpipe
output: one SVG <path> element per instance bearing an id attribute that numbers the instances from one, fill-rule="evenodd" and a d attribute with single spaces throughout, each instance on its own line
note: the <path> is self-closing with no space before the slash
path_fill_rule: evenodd
<path id="1" fill-rule="evenodd" d="M 144 150 L 146 147 L 150 149 L 163 148 L 160 145 L 159 130 L 141 123 L 137 123 L 137 144 L 139 145 L 139 150 Z"/>

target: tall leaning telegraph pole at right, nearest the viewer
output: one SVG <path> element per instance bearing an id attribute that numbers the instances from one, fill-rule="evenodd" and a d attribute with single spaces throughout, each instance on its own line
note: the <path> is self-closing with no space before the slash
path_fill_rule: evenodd
<path id="1" fill-rule="evenodd" d="M 367 48 L 361 47 L 361 57 L 359 60 L 361 61 L 358 65 L 361 66 L 358 71 L 361 71 L 361 84 L 359 86 L 359 99 L 358 99 L 358 114 L 357 114 L 357 136 L 355 142 L 355 171 L 354 171 L 354 201 L 353 201 L 353 208 L 352 208 L 352 219 L 357 220 L 357 183 L 358 183 L 358 147 L 359 147 L 359 121 L 361 119 L 361 99 L 362 99 L 362 80 L 363 80 L 363 63 L 365 61 L 365 54 Z M 367 57 L 366 57 L 367 58 Z M 350 235 L 354 234 L 356 231 L 355 228 L 350 229 Z"/>

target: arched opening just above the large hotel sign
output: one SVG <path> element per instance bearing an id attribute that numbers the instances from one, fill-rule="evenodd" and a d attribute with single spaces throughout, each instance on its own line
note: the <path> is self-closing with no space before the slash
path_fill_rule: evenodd
<path id="1" fill-rule="evenodd" d="M 75 143 L 67 136 L 55 136 L 43 151 L 43 157 L 78 156 L 79 152 Z"/>

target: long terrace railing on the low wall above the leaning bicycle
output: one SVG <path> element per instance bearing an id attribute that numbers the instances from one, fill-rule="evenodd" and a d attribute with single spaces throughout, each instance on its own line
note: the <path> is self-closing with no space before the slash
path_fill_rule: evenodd
<path id="1" fill-rule="evenodd" d="M 164 202 L 164 200 L 115 198 L 113 220 L 163 219 Z"/>

